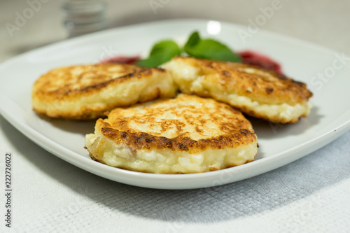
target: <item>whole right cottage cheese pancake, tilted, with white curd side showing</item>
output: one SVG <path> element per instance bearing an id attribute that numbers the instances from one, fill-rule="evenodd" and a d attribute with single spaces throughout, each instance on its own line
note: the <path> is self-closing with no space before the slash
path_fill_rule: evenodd
<path id="1" fill-rule="evenodd" d="M 274 71 L 192 57 L 174 57 L 163 67 L 181 92 L 213 97 L 256 118 L 293 123 L 310 112 L 306 85 Z"/>

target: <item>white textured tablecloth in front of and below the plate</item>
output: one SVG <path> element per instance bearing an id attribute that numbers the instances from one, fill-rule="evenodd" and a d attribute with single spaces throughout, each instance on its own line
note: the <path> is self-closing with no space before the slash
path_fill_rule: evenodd
<path id="1" fill-rule="evenodd" d="M 36 146 L 3 118 L 0 125 L 1 149 L 13 153 L 15 230 L 350 230 L 350 132 L 296 162 L 245 181 L 199 190 L 151 190 L 78 169 Z M 3 160 L 0 166 L 2 170 Z M 5 203 L 3 195 L 0 203 Z"/>

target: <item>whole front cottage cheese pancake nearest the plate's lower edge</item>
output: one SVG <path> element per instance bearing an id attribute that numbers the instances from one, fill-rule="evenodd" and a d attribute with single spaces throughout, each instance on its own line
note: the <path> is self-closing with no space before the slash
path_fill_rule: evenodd
<path id="1" fill-rule="evenodd" d="M 85 146 L 112 167 L 155 174 L 215 171 L 251 162 L 257 137 L 241 112 L 214 99 L 179 94 L 97 120 Z"/>

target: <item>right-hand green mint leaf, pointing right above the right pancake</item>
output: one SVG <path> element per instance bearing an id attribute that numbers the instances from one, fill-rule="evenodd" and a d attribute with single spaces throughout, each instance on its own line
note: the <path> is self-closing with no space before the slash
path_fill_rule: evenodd
<path id="1" fill-rule="evenodd" d="M 230 50 L 228 46 L 214 39 L 202 39 L 197 31 L 193 32 L 188 38 L 184 49 L 192 57 L 241 62 L 241 57 Z"/>

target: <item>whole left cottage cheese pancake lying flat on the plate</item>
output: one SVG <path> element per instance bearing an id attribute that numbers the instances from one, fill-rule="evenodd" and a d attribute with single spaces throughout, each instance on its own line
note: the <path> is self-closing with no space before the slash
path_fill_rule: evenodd
<path id="1" fill-rule="evenodd" d="M 38 78 L 32 104 L 34 111 L 51 118 L 89 120 L 118 106 L 175 94 L 172 77 L 164 69 L 91 64 L 53 69 Z"/>

